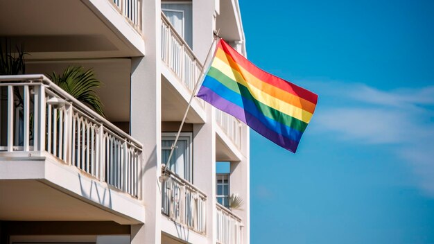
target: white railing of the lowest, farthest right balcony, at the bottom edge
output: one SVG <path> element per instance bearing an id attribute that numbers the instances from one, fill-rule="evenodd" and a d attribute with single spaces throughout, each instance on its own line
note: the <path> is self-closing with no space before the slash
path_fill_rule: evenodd
<path id="1" fill-rule="evenodd" d="M 241 244 L 243 243 L 243 223 L 241 218 L 223 207 L 216 204 L 217 209 L 217 243 Z"/>

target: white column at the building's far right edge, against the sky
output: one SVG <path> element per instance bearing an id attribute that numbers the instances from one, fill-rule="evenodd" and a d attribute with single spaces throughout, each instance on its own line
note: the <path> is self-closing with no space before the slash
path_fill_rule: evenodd
<path id="1" fill-rule="evenodd" d="M 231 163 L 230 193 L 238 193 L 243 199 L 241 210 L 234 209 L 234 213 L 243 219 L 243 243 L 250 243 L 250 129 L 243 126 L 241 162 Z"/>

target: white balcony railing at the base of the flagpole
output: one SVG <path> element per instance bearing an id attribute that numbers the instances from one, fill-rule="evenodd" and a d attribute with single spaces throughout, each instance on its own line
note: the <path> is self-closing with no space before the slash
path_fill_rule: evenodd
<path id="1" fill-rule="evenodd" d="M 206 234 L 207 196 L 193 184 L 166 169 L 162 184 L 162 214 L 200 234 Z"/>

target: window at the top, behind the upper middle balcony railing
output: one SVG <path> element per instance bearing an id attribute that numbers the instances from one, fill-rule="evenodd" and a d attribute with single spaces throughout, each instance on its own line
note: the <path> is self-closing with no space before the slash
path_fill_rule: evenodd
<path id="1" fill-rule="evenodd" d="M 164 3 L 162 11 L 168 21 L 175 27 L 176 32 L 184 38 L 185 42 L 192 47 L 193 40 L 193 17 L 191 15 L 191 3 Z"/>

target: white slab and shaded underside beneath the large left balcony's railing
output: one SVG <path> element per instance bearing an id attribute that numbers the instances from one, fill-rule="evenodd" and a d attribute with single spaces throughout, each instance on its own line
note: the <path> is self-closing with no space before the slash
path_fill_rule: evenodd
<path id="1" fill-rule="evenodd" d="M 140 200 L 48 153 L 0 157 L 0 192 L 3 220 L 145 223 Z"/>

